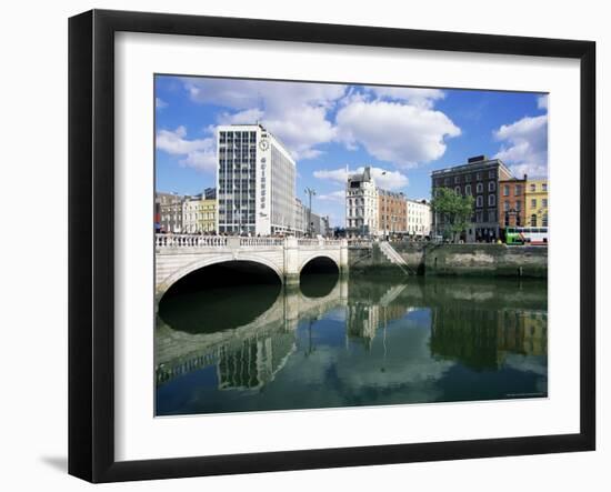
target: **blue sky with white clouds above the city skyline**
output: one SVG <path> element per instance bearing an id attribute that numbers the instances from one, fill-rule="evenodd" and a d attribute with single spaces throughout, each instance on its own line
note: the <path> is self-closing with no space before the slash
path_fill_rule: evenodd
<path id="1" fill-rule="evenodd" d="M 297 161 L 297 195 L 343 224 L 343 183 L 363 165 L 378 185 L 430 198 L 430 172 L 499 157 L 515 175 L 548 172 L 548 97 L 539 93 L 156 77 L 158 191 L 216 183 L 214 128 L 261 122 Z M 385 174 L 382 172 L 385 171 Z"/>

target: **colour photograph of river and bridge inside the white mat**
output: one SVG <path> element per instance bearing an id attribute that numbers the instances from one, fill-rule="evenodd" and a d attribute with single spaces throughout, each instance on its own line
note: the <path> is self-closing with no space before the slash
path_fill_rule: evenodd
<path id="1" fill-rule="evenodd" d="M 548 398 L 548 93 L 153 77 L 156 416 Z"/>

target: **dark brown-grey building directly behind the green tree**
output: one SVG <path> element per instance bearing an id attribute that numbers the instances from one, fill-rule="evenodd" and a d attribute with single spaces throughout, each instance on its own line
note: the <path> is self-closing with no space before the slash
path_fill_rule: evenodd
<path id="1" fill-rule="evenodd" d="M 499 238 L 499 181 L 512 178 L 509 169 L 500 159 L 485 155 L 470 158 L 467 164 L 440 169 L 431 173 L 433 197 L 440 188 L 450 188 L 462 195 L 474 197 L 472 227 L 463 240 L 494 241 Z M 441 234 L 445 228 L 445 218 L 433 213 L 433 231 Z"/>

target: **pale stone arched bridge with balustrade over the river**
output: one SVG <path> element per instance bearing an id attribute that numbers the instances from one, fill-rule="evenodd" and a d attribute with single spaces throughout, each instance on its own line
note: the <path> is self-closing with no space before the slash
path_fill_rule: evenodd
<path id="1" fill-rule="evenodd" d="M 241 238 L 223 235 L 156 235 L 156 300 L 196 270 L 216 263 L 249 261 L 276 272 L 287 285 L 299 284 L 306 264 L 331 260 L 340 273 L 348 271 L 348 242 L 329 239 Z"/>

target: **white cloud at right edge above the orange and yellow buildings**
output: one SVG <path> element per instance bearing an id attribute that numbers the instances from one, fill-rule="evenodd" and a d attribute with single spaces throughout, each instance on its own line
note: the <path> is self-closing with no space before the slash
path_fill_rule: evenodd
<path id="1" fill-rule="evenodd" d="M 524 117 L 494 131 L 501 149 L 494 155 L 510 165 L 515 175 L 548 174 L 548 116 Z"/>

